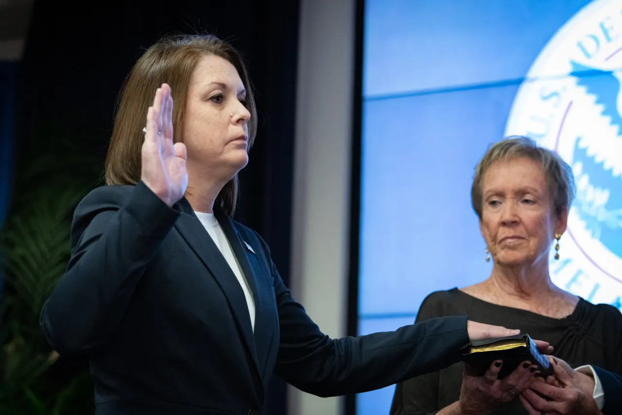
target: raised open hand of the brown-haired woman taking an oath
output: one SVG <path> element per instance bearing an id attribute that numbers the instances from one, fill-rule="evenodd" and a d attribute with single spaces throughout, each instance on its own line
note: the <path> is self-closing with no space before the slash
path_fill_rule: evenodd
<path id="1" fill-rule="evenodd" d="M 163 83 L 147 111 L 141 180 L 169 207 L 183 197 L 188 186 L 186 159 L 185 145 L 173 143 L 173 98 L 170 86 Z"/>

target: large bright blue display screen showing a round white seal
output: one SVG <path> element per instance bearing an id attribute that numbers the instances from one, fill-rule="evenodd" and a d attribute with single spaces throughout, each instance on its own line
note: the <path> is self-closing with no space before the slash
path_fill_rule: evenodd
<path id="1" fill-rule="evenodd" d="M 512 134 L 575 173 L 555 284 L 620 308 L 620 2 L 366 0 L 363 36 L 359 333 L 490 275 L 471 180 Z M 388 414 L 394 388 L 359 394 L 357 413 Z"/>

